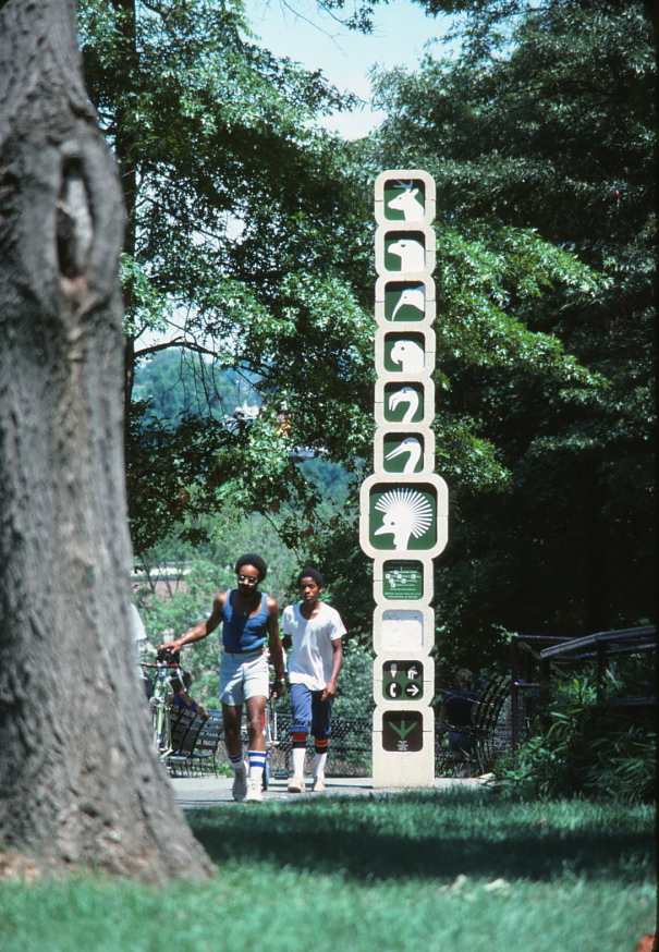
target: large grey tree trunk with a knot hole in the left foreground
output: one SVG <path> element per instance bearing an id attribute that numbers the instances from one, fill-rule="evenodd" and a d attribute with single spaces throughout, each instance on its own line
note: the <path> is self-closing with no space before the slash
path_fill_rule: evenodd
<path id="1" fill-rule="evenodd" d="M 72 0 L 0 0 L 2 846 L 49 871 L 208 876 L 130 634 L 122 221 Z"/>

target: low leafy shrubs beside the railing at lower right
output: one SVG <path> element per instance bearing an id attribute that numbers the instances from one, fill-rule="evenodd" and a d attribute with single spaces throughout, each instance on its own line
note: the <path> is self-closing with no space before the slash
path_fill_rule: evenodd
<path id="1" fill-rule="evenodd" d="M 657 773 L 654 724 L 639 713 L 595 704 L 595 686 L 587 679 L 558 682 L 538 713 L 540 733 L 524 742 L 511 776 L 541 796 L 651 802 Z"/>

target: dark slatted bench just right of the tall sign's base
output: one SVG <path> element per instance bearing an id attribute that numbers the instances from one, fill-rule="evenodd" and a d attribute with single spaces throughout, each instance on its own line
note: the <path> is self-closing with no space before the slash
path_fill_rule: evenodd
<path id="1" fill-rule="evenodd" d="M 511 694 L 511 680 L 503 674 L 491 678 L 477 700 L 474 701 L 473 723 L 469 727 L 454 727 L 450 723 L 437 724 L 435 772 L 438 777 L 464 774 L 483 776 L 488 773 L 499 753 L 499 722 L 503 706 Z M 444 691 L 449 695 L 450 691 Z M 450 750 L 444 743 L 449 731 L 464 734 L 473 741 L 469 754 Z"/>

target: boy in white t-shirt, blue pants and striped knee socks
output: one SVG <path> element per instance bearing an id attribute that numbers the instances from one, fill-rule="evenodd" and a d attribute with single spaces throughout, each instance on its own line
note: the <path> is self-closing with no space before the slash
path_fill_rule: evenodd
<path id="1" fill-rule="evenodd" d="M 289 781 L 289 793 L 305 790 L 304 758 L 309 731 L 315 752 L 312 790 L 325 790 L 330 718 L 343 661 L 341 637 L 345 634 L 339 612 L 318 600 L 324 585 L 320 572 L 303 569 L 297 585 L 302 601 L 284 608 L 281 619 L 284 647 L 292 646 L 289 681 L 293 706 L 293 777 Z"/>

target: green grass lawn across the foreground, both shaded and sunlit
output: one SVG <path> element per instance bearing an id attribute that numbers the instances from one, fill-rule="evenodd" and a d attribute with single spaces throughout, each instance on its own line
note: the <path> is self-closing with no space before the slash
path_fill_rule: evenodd
<path id="1" fill-rule="evenodd" d="M 0 952 L 634 952 L 655 930 L 655 816 L 488 791 L 190 815 L 210 884 L 0 888 Z"/>

